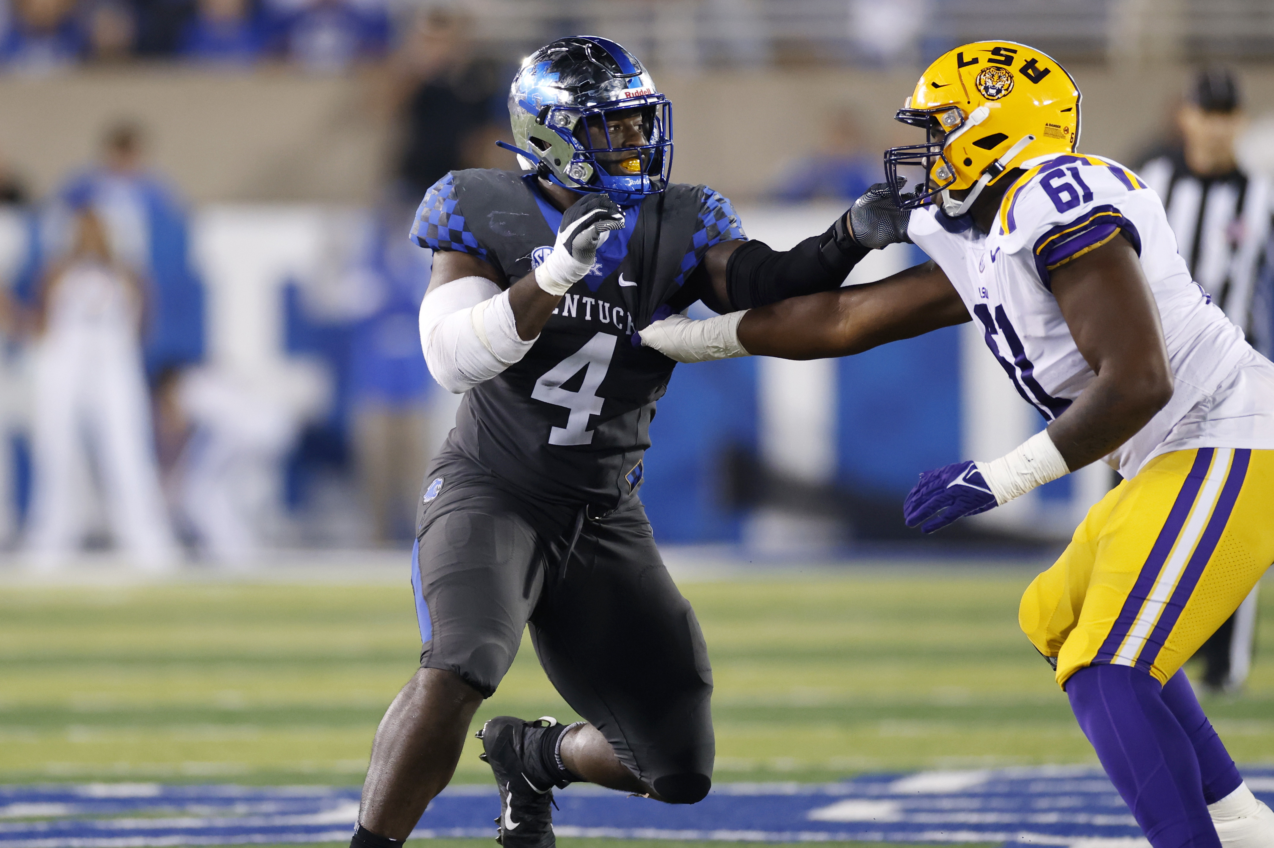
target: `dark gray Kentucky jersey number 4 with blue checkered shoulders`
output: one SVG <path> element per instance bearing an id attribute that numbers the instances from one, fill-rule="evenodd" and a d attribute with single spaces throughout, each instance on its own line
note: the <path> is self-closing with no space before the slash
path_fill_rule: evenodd
<path id="1" fill-rule="evenodd" d="M 624 213 L 526 357 L 465 393 L 443 452 L 554 502 L 606 511 L 637 491 L 676 363 L 634 334 L 697 299 L 683 286 L 710 247 L 747 237 L 707 186 L 673 183 Z M 534 176 L 454 171 L 426 192 L 412 238 L 490 262 L 507 288 L 553 250 L 561 220 Z"/>

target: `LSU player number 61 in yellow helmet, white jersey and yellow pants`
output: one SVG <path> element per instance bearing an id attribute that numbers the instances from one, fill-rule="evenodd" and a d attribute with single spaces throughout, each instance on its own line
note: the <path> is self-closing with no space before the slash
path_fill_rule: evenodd
<path id="1" fill-rule="evenodd" d="M 933 532 L 1106 457 L 1125 477 L 1022 598 L 1023 630 L 1156 848 L 1274 845 L 1185 662 L 1274 560 L 1274 365 L 1190 279 L 1158 195 L 1075 154 L 1079 90 L 1045 53 L 958 47 L 898 120 L 930 143 L 885 154 L 877 232 L 931 258 L 763 309 L 675 316 L 642 343 L 680 362 L 838 357 L 976 320 L 1046 430 L 991 462 L 921 475 Z M 920 171 L 902 195 L 898 168 Z M 915 211 L 912 211 L 915 210 Z"/>

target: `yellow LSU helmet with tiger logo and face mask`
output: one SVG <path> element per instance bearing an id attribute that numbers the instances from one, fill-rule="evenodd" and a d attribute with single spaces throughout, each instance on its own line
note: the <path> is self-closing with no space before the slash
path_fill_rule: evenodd
<path id="1" fill-rule="evenodd" d="M 896 120 L 929 131 L 927 144 L 889 148 L 885 176 L 902 209 L 941 195 L 963 215 L 982 188 L 1017 163 L 1079 144 L 1079 88 L 1047 53 L 1013 41 L 978 41 L 925 69 Z M 913 192 L 902 194 L 899 168 Z M 950 196 L 967 190 L 963 200 Z"/>

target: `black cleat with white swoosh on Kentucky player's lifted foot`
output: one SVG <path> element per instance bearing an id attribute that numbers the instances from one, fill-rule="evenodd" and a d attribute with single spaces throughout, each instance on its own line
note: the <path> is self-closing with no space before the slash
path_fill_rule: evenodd
<path id="1" fill-rule="evenodd" d="M 555 848 L 553 835 L 553 787 L 540 788 L 526 775 L 527 760 L 538 756 L 536 744 L 544 730 L 557 724 L 549 716 L 524 722 L 497 716 L 475 733 L 482 740 L 480 760 L 496 774 L 499 789 L 498 842 L 505 848 Z"/>

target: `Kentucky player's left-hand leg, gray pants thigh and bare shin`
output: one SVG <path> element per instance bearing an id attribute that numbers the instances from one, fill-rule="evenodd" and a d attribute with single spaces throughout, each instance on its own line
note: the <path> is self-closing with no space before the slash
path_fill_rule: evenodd
<path id="1" fill-rule="evenodd" d="M 543 586 L 534 528 L 517 499 L 485 477 L 448 474 L 418 525 L 412 587 L 422 667 L 376 733 L 363 842 L 353 843 L 367 848 L 405 839 L 450 782 L 469 722 L 513 662 Z"/>

